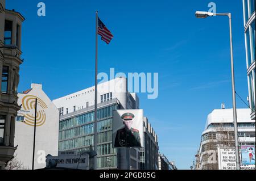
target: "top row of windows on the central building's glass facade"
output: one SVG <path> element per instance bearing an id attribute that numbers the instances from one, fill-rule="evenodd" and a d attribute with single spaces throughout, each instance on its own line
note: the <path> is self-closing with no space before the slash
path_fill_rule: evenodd
<path id="1" fill-rule="evenodd" d="M 113 110 L 116 110 L 116 109 L 117 109 L 116 104 L 113 106 L 101 108 L 100 110 L 97 111 L 98 120 L 104 119 L 106 117 L 112 117 Z M 94 121 L 94 112 L 85 113 L 84 115 L 80 115 L 64 121 L 60 121 L 59 130 L 61 131 L 63 129 L 77 127 L 79 125 L 90 123 L 92 121 Z"/>

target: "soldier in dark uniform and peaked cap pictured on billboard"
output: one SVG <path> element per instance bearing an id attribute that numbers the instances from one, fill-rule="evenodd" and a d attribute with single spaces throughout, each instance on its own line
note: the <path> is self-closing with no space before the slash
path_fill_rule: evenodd
<path id="1" fill-rule="evenodd" d="M 141 147 L 138 129 L 131 128 L 134 119 L 133 113 L 124 113 L 121 118 L 125 128 L 117 131 L 114 147 Z"/>

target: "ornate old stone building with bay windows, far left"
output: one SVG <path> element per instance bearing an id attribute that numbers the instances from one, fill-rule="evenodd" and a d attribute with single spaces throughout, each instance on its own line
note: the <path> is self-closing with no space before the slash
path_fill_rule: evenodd
<path id="1" fill-rule="evenodd" d="M 15 10 L 5 9 L 0 0 L 0 169 L 14 157 L 15 117 L 17 104 L 21 30 L 24 17 Z"/>

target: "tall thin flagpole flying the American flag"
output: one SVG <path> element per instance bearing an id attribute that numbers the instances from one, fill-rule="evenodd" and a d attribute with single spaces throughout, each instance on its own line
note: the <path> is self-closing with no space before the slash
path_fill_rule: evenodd
<path id="1" fill-rule="evenodd" d="M 94 151 L 97 152 L 97 74 L 98 74 L 98 11 L 96 11 L 96 56 L 95 56 L 95 102 L 94 102 Z M 94 157 L 94 170 L 97 170 L 97 156 Z"/>

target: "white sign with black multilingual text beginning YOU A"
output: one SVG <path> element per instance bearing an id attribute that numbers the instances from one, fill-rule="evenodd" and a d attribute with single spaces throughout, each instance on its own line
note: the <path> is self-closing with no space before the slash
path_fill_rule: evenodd
<path id="1" fill-rule="evenodd" d="M 218 169 L 219 170 L 236 170 L 236 149 L 235 148 L 218 148 Z"/>

